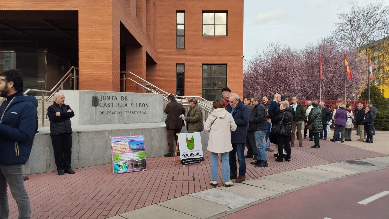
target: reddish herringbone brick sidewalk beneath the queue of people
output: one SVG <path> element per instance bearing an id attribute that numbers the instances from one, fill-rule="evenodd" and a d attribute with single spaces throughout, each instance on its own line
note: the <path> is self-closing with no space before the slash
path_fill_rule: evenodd
<path id="1" fill-rule="evenodd" d="M 268 155 L 269 168 L 255 168 L 246 159 L 248 179 L 289 170 L 329 164 L 343 160 L 380 157 L 370 150 L 331 141 L 321 141 L 321 148 L 293 147 L 291 162 L 275 162 Z M 147 159 L 147 170 L 113 175 L 110 165 L 76 169 L 63 176 L 56 172 L 30 175 L 25 181 L 31 201 L 32 219 L 106 218 L 136 208 L 159 203 L 186 194 L 210 189 L 210 153 L 204 152 L 203 164 L 173 166 L 172 158 Z M 219 163 L 218 185 L 222 185 Z M 10 194 L 10 192 L 9 192 Z M 9 195 L 10 219 L 18 216 L 14 199 Z"/>

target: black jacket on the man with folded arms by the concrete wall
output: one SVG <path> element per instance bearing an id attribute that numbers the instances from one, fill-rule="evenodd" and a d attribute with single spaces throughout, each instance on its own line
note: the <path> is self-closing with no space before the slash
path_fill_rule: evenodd
<path id="1" fill-rule="evenodd" d="M 74 117 L 74 111 L 67 112 L 69 109 L 72 109 L 69 105 L 62 104 L 62 106 L 60 106 L 56 102 L 47 108 L 47 117 L 49 117 L 50 120 L 50 135 L 71 134 L 73 132 L 70 118 Z M 59 112 L 61 116 L 55 115 L 57 112 Z"/>

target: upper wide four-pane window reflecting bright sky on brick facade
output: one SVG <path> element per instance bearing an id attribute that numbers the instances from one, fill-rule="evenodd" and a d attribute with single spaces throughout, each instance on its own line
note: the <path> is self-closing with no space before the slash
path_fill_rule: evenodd
<path id="1" fill-rule="evenodd" d="M 203 36 L 226 36 L 227 12 L 203 12 Z"/>

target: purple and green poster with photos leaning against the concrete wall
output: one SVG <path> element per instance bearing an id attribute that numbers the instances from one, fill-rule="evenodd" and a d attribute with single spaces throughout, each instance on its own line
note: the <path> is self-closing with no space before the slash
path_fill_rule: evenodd
<path id="1" fill-rule="evenodd" d="M 113 173 L 146 170 L 144 135 L 111 137 Z"/>

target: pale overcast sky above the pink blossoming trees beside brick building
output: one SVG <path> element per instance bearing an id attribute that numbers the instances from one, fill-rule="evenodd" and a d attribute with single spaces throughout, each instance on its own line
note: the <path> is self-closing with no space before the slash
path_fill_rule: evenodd
<path id="1" fill-rule="evenodd" d="M 389 0 L 385 0 L 389 1 Z M 272 42 L 302 49 L 334 30 L 336 13 L 348 11 L 349 0 L 244 0 L 244 59 Z M 370 3 L 375 0 L 359 0 Z"/>

